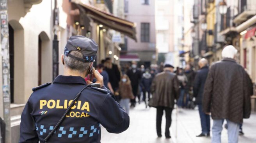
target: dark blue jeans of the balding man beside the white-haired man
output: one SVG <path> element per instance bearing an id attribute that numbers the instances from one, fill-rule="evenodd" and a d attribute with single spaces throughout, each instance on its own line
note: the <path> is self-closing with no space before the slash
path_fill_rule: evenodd
<path id="1" fill-rule="evenodd" d="M 200 120 L 201 120 L 201 127 L 202 127 L 202 133 L 208 134 L 210 133 L 210 115 L 205 114 L 202 110 L 202 105 L 198 105 Z"/>

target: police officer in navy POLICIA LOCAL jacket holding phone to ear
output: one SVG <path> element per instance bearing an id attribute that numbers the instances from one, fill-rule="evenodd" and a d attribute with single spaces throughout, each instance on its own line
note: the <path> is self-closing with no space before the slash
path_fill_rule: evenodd
<path id="1" fill-rule="evenodd" d="M 60 120 L 76 94 L 91 84 L 85 77 L 98 51 L 94 40 L 71 36 L 61 56 L 64 74 L 33 88 L 21 115 L 19 143 L 41 143 Z M 128 114 L 103 85 L 103 77 L 93 68 L 101 88 L 85 88 L 47 143 L 100 143 L 102 125 L 109 133 L 121 133 L 130 124 Z"/>

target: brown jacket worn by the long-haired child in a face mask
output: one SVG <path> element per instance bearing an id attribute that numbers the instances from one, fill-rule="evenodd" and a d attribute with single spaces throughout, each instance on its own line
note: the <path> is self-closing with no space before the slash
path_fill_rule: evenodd
<path id="1" fill-rule="evenodd" d="M 131 82 L 119 82 L 119 94 L 122 99 L 133 98 Z"/>

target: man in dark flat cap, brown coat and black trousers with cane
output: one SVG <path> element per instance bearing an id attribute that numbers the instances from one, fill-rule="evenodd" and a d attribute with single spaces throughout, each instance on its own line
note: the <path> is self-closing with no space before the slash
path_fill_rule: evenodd
<path id="1" fill-rule="evenodd" d="M 179 80 L 173 73 L 172 65 L 165 65 L 164 72 L 158 73 L 151 84 L 152 98 L 149 106 L 156 108 L 156 132 L 162 137 L 161 124 L 165 110 L 165 137 L 171 138 L 169 128 L 171 127 L 171 115 L 174 107 L 174 99 L 179 97 Z"/>

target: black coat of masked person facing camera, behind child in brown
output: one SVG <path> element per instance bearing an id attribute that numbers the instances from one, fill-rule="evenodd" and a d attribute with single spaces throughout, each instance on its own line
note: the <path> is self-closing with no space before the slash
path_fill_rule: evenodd
<path id="1" fill-rule="evenodd" d="M 135 72 L 133 72 L 133 70 L 134 69 L 128 70 L 126 75 L 128 75 L 131 80 L 133 94 L 134 96 L 136 96 L 137 94 L 139 94 L 139 85 L 142 74 L 138 69 L 135 69 Z"/>

